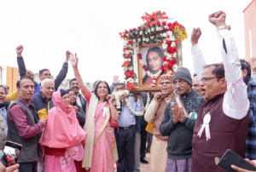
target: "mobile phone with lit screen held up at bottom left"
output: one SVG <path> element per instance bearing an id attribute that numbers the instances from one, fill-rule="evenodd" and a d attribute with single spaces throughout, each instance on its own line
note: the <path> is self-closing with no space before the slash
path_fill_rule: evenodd
<path id="1" fill-rule="evenodd" d="M 20 158 L 20 152 L 22 151 L 22 145 L 19 143 L 15 143 L 12 141 L 7 141 L 4 148 L 3 148 L 3 161 L 7 164 L 6 166 L 9 167 L 18 162 Z"/>

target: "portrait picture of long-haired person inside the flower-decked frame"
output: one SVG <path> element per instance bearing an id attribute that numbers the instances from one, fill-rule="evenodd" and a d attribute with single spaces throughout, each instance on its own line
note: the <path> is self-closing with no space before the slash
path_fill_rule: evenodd
<path id="1" fill-rule="evenodd" d="M 160 46 L 142 48 L 142 54 L 143 54 L 143 60 L 146 62 L 148 71 L 151 72 L 152 74 L 159 72 L 161 69 L 161 66 L 164 63 L 164 60 L 163 60 L 164 53 L 162 49 L 160 49 Z M 152 81 L 153 81 L 152 77 L 149 77 L 148 74 L 145 72 L 145 70 L 143 70 L 143 85 L 151 84 Z M 159 83 L 158 81 L 159 79 L 157 79 L 156 83 Z"/>

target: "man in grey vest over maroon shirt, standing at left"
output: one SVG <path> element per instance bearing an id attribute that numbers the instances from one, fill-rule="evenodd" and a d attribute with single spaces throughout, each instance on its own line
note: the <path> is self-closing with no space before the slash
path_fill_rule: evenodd
<path id="1" fill-rule="evenodd" d="M 37 171 L 38 134 L 46 125 L 46 119 L 38 119 L 38 112 L 32 105 L 34 83 L 32 77 L 24 76 L 17 82 L 19 97 L 10 105 L 7 114 L 7 140 L 23 146 L 18 163 L 19 171 Z"/>

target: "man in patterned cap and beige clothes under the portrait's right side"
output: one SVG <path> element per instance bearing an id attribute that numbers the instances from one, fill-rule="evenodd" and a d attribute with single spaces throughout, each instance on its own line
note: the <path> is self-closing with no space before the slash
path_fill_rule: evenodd
<path id="1" fill-rule="evenodd" d="M 166 171 L 168 136 L 160 134 L 159 126 L 164 118 L 167 103 L 177 97 L 173 93 L 172 75 L 165 74 L 160 77 L 160 89 L 161 92 L 154 95 L 154 100 L 151 101 L 144 116 L 148 123 L 154 123 L 154 136 L 150 150 L 150 171 L 152 172 Z"/>

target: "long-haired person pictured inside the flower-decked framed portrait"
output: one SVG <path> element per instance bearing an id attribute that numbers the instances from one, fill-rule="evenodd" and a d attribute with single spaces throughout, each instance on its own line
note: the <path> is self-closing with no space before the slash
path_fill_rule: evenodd
<path id="1" fill-rule="evenodd" d="M 164 60 L 162 59 L 163 56 L 163 51 L 159 47 L 151 47 L 150 49 L 148 49 L 148 53 L 146 55 L 146 62 L 149 72 L 155 74 L 160 71 L 161 66 L 164 63 Z M 143 77 L 143 84 L 151 84 L 152 81 L 152 78 L 148 77 L 148 74 Z M 159 81 L 159 79 L 157 81 Z"/>

